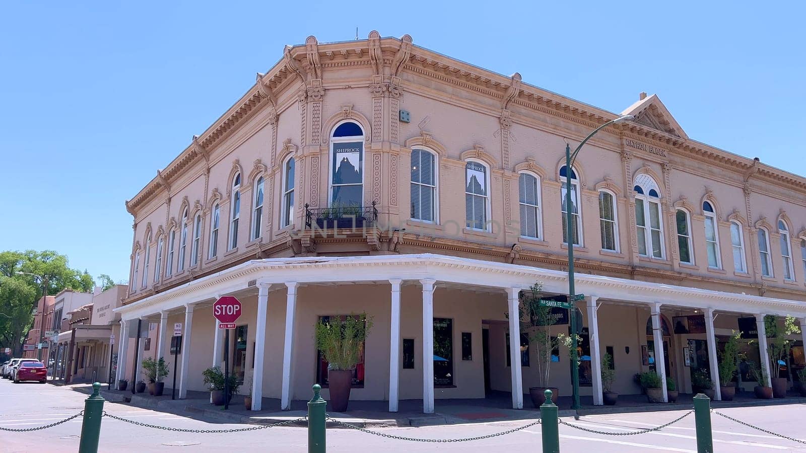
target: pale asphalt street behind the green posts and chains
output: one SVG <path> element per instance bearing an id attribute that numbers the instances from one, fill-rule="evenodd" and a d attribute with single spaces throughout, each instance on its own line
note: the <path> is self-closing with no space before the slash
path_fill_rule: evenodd
<path id="1" fill-rule="evenodd" d="M 51 384 L 13 384 L 0 380 L 0 428 L 33 428 L 58 422 L 77 414 L 84 407 L 86 395 L 68 387 Z M 137 422 L 185 429 L 239 428 L 213 419 L 189 418 L 131 405 L 107 402 L 109 414 Z M 804 405 L 779 405 L 722 409 L 733 418 L 760 426 L 779 434 L 800 438 L 804 443 L 778 438 L 771 434 L 742 426 L 713 414 L 715 451 L 806 451 L 806 419 Z M 685 414 L 682 412 L 651 412 L 597 415 L 564 418 L 568 423 L 607 433 L 644 430 Z M 528 422 L 467 423 L 450 426 L 419 428 L 378 428 L 376 432 L 412 438 L 465 438 L 484 436 L 524 426 Z M 25 433 L 0 432 L 0 451 L 58 452 L 77 451 L 81 434 L 81 418 L 59 426 Z M 356 430 L 327 430 L 327 451 L 541 451 L 540 426 L 532 426 L 512 434 L 460 443 L 420 443 L 384 438 Z M 275 427 L 244 433 L 197 434 L 156 430 L 104 418 L 99 451 L 307 451 L 307 430 L 304 427 Z M 636 435 L 593 434 L 571 426 L 560 426 L 563 451 L 696 451 L 694 415 L 663 430 Z"/>

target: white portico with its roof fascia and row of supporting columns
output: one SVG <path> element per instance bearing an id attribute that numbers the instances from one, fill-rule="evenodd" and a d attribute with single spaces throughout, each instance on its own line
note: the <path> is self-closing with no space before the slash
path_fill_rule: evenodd
<path id="1" fill-rule="evenodd" d="M 257 289 L 256 333 L 254 349 L 254 365 L 256 370 L 264 369 L 266 359 L 266 333 L 268 295 L 272 291 L 285 292 L 284 342 L 278 366 L 280 374 L 280 407 L 291 409 L 293 399 L 293 372 L 297 366 L 294 362 L 294 330 L 298 327 L 296 318 L 297 291 L 305 285 L 349 285 L 372 284 L 389 285 L 389 337 L 388 337 L 388 409 L 396 412 L 399 409 L 400 376 L 401 376 L 401 285 L 417 285 L 422 291 L 422 410 L 426 414 L 434 412 L 434 289 L 442 287 L 483 287 L 490 293 L 501 295 L 506 302 L 509 315 L 510 338 L 520 337 L 520 323 L 517 322 L 518 294 L 529 289 L 535 281 L 541 281 L 546 293 L 566 293 L 567 273 L 523 266 L 504 264 L 483 260 L 471 260 L 452 256 L 434 254 L 390 255 L 390 256 L 344 256 L 344 257 L 301 257 L 252 260 L 229 268 L 226 271 L 202 277 L 196 281 L 168 289 L 143 300 L 136 301 L 115 309 L 121 314 L 123 328 L 131 319 L 159 319 L 160 338 L 159 351 L 165 351 L 168 341 L 168 317 L 172 314 L 184 313 L 185 331 L 181 344 L 181 364 L 179 368 L 179 395 L 185 397 L 189 383 L 189 361 L 200 359 L 205 351 L 196 350 L 193 346 L 192 329 L 193 312 L 210 305 L 216 297 L 243 292 L 254 293 Z M 718 382 L 716 367 L 716 342 L 713 335 L 713 313 L 722 310 L 732 313 L 754 314 L 762 318 L 765 314 L 779 316 L 792 315 L 800 319 L 804 325 L 806 304 L 770 297 L 749 296 L 746 294 L 724 293 L 706 289 L 696 289 L 675 285 L 664 285 L 644 281 L 633 281 L 608 276 L 595 276 L 577 273 L 575 276 L 577 291 L 586 294 L 584 306 L 588 318 L 591 343 L 592 395 L 593 402 L 600 405 L 602 383 L 600 379 L 600 345 L 598 307 L 609 301 L 620 304 L 642 305 L 650 309 L 654 330 L 655 355 L 663 357 L 663 336 L 661 331 L 661 310 L 664 305 L 680 309 L 703 310 L 708 329 L 709 357 L 713 360 L 711 372 L 713 380 Z M 512 316 L 514 314 L 515 316 Z M 376 322 L 386 322 L 376 319 Z M 763 326 L 763 322 L 759 322 Z M 210 319 L 210 326 L 215 327 Z M 213 364 L 221 361 L 221 336 L 215 330 L 213 343 Z M 766 343 L 764 335 L 759 332 L 759 342 Z M 121 338 L 127 338 L 122 332 Z M 763 346 L 763 344 L 762 344 Z M 126 357 L 127 342 L 120 343 L 120 356 Z M 209 349 L 208 349 L 209 351 Z M 766 347 L 762 347 L 762 355 Z M 510 342 L 509 358 L 511 361 L 511 403 L 513 409 L 523 407 L 523 383 L 521 374 L 521 351 L 517 341 Z M 762 360 L 767 364 L 768 360 Z M 128 364 L 118 366 L 118 379 L 126 376 Z M 658 361 L 659 375 L 666 379 L 663 360 Z M 769 373 L 767 373 L 769 376 Z M 269 384 L 269 383 L 267 383 Z M 264 395 L 264 374 L 256 372 L 251 382 L 252 408 L 261 409 Z M 663 385 L 664 397 L 666 385 Z M 717 393 L 717 399 L 719 395 Z"/>

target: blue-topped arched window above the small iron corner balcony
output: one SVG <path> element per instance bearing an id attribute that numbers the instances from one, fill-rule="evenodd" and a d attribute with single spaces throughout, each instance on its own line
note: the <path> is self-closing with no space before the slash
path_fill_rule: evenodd
<path id="1" fill-rule="evenodd" d="M 330 136 L 330 206 L 364 205 L 364 131 L 351 121 Z"/>

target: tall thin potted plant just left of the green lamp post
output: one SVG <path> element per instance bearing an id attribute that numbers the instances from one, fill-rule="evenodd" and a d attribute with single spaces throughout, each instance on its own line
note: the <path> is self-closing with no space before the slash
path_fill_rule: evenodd
<path id="1" fill-rule="evenodd" d="M 529 388 L 529 397 L 534 407 L 540 407 L 546 401 L 546 389 L 551 390 L 551 401 L 557 404 L 559 389 L 549 387 L 552 351 L 559 346 L 559 336 L 551 336 L 551 326 L 557 319 L 552 316 L 551 308 L 538 303 L 543 289 L 540 281 L 534 282 L 529 291 L 521 292 L 518 316 L 521 321 L 521 332 L 527 335 L 529 343 L 534 345 L 537 355 L 538 385 Z M 505 314 L 509 318 L 509 314 Z M 518 339 L 509 339 L 519 341 Z M 559 359 L 559 358 L 558 358 Z"/>

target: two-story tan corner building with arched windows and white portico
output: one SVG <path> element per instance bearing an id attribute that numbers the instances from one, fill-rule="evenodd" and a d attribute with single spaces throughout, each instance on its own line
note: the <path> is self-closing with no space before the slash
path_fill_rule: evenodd
<path id="1" fill-rule="evenodd" d="M 634 119 L 564 167 L 567 143 L 621 114 Z M 375 326 L 352 398 L 390 411 L 422 399 L 430 413 L 509 392 L 520 408 L 538 372 L 528 341 L 509 341 L 522 336 L 510 315 L 535 281 L 567 293 L 567 178 L 580 382 L 596 404 L 605 352 L 619 393 L 639 393 L 633 376 L 650 369 L 690 392 L 692 372 L 717 380 L 717 349 L 740 325 L 803 323 L 804 177 L 690 139 L 655 95 L 614 113 L 376 31 L 285 48 L 127 202 L 131 288 L 115 311 L 124 329 L 159 322 L 166 359 L 183 324 L 181 397 L 222 363 L 210 307 L 231 294 L 244 305 L 232 367 L 252 377 L 253 409 L 261 397 L 289 409 L 325 384 L 314 324 L 360 312 Z M 767 364 L 764 347 L 747 350 Z M 550 367 L 568 395 L 567 355 Z"/>

